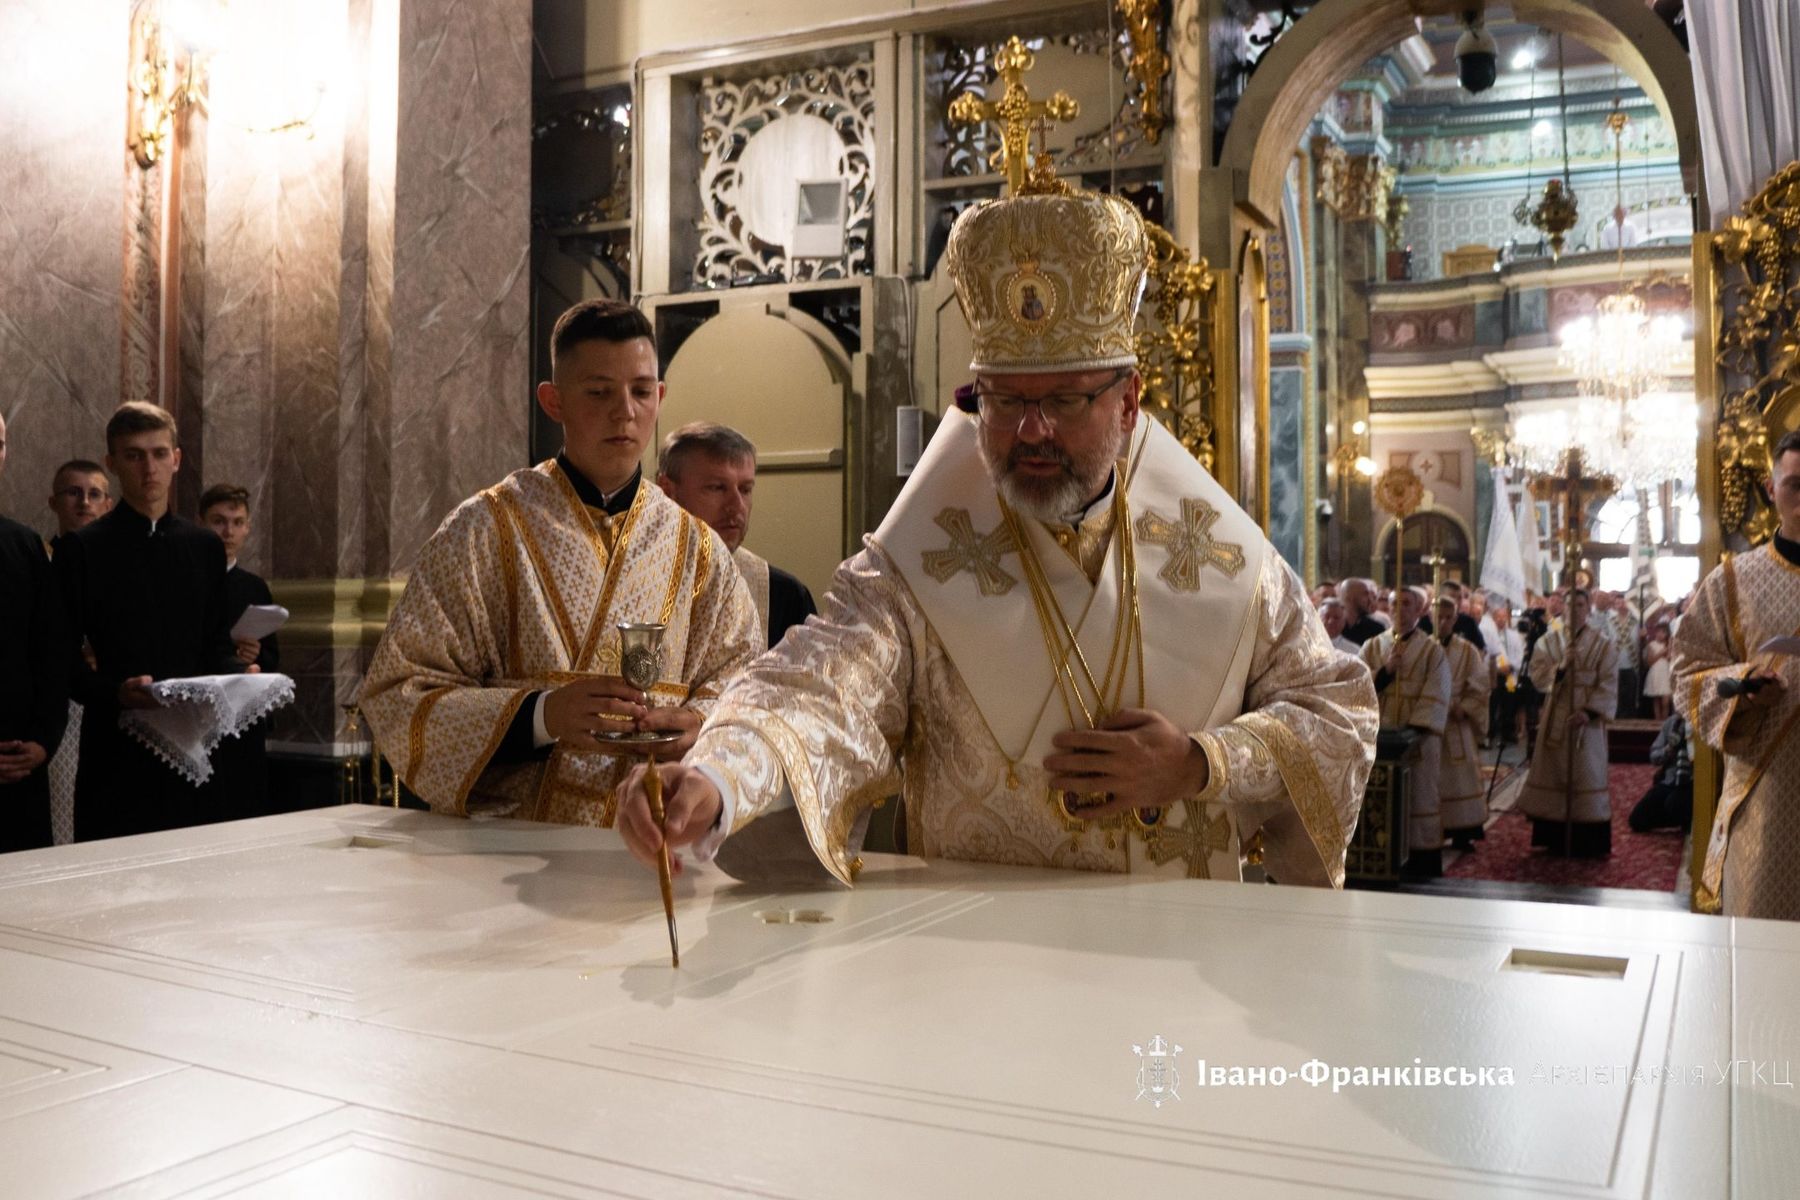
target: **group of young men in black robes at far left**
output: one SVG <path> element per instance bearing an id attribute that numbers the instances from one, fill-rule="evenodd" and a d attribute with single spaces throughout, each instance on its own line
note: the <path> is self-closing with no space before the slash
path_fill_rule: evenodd
<path id="1" fill-rule="evenodd" d="M 238 563 L 250 493 L 216 484 L 198 520 L 173 513 L 182 450 L 155 405 L 121 405 L 104 446 L 103 461 L 56 468 L 49 538 L 0 518 L 0 851 L 268 811 L 261 723 L 194 784 L 119 721 L 157 707 L 160 680 L 279 669 L 275 635 L 232 637 L 270 601 Z"/>

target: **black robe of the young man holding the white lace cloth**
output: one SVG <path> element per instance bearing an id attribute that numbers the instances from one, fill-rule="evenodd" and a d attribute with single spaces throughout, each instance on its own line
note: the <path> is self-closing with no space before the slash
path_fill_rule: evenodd
<path id="1" fill-rule="evenodd" d="M 56 578 L 74 626 L 65 653 L 81 702 L 76 840 L 223 819 L 218 777 L 196 788 L 119 729 L 119 684 L 243 669 L 225 619 L 225 543 L 180 516 L 151 522 L 119 504 L 58 543 Z M 92 667 L 81 639 L 94 649 Z"/>

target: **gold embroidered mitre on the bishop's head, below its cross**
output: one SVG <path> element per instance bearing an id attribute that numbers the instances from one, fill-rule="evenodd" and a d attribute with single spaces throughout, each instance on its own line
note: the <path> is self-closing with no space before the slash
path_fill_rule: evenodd
<path id="1" fill-rule="evenodd" d="M 950 228 L 943 257 L 976 340 L 970 371 L 1138 363 L 1132 331 L 1150 237 L 1118 196 L 985 200 Z"/>

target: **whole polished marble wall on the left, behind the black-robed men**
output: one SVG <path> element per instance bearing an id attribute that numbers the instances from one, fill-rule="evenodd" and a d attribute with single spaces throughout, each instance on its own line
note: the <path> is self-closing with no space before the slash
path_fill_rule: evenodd
<path id="1" fill-rule="evenodd" d="M 317 0 L 306 31 L 333 68 L 310 128 L 221 97 L 189 128 L 180 495 L 250 489 L 245 565 L 293 610 L 272 743 L 328 750 L 394 578 L 527 462 L 531 4 Z M 128 207 L 164 178 L 126 151 L 128 43 L 128 0 L 0 5 L 0 511 L 41 529 L 157 320 L 126 295 Z"/>

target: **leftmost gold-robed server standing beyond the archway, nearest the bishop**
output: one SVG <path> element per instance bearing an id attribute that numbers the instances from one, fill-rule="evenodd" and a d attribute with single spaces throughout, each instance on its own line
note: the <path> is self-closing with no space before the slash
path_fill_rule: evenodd
<path id="1" fill-rule="evenodd" d="M 1408 774 L 1406 873 L 1444 874 L 1444 811 L 1438 801 L 1438 765 L 1444 723 L 1451 709 L 1451 671 L 1444 648 L 1424 630 L 1426 596 L 1418 588 L 1393 594 L 1393 628 L 1363 642 L 1363 662 L 1381 694 L 1381 723 L 1411 729 L 1417 754 Z"/>

